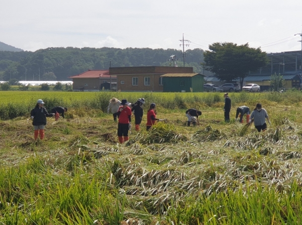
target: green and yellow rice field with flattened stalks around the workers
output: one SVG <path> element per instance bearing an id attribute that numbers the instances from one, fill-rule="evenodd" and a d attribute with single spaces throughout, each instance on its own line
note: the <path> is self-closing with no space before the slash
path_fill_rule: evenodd
<path id="1" fill-rule="evenodd" d="M 2 224 L 301 224 L 301 92 L 0 92 Z M 158 106 L 158 123 L 117 143 L 109 99 Z M 34 142 L 37 99 L 68 108 Z M 262 103 L 272 125 L 256 132 L 236 108 Z M 187 127 L 187 108 L 202 111 Z M 105 113 L 104 113 L 105 112 Z M 134 119 L 132 121 L 134 128 Z"/>

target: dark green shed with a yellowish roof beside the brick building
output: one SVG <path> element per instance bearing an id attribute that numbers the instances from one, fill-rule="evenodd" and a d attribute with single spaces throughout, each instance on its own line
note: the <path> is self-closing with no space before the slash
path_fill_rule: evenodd
<path id="1" fill-rule="evenodd" d="M 166 73 L 163 78 L 164 92 L 203 92 L 203 77 L 200 73 Z"/>

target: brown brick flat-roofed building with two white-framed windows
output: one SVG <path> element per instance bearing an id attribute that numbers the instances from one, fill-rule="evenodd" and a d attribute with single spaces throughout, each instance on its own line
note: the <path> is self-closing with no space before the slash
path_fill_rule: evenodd
<path id="1" fill-rule="evenodd" d="M 117 90 L 124 92 L 163 92 L 161 76 L 166 73 L 193 73 L 193 68 L 172 66 L 109 68 L 109 74 L 117 77 Z"/>

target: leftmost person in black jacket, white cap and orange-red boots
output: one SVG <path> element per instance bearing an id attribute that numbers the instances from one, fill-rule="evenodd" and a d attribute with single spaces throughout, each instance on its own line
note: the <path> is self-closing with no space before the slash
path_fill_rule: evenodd
<path id="1" fill-rule="evenodd" d="M 39 134 L 40 139 L 44 138 L 44 127 L 46 125 L 46 117 L 54 116 L 54 113 L 48 113 L 44 107 L 42 99 L 37 101 L 36 107 L 30 112 L 30 116 L 33 119 L 34 125 L 34 139 L 37 140 Z"/>

